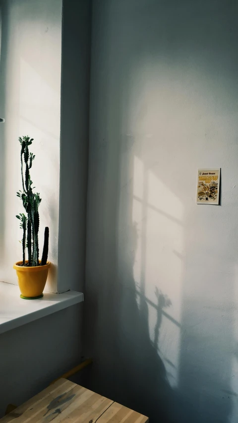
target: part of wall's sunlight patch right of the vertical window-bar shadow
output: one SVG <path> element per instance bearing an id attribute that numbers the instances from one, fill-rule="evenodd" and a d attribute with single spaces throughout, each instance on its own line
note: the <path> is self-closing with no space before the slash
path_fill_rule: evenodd
<path id="1" fill-rule="evenodd" d="M 174 252 L 182 253 L 183 210 L 176 194 L 150 170 L 147 210 L 146 297 L 157 304 L 156 310 L 149 307 L 150 336 L 157 339 L 155 347 L 164 360 L 171 385 L 176 386 L 183 263 Z"/>

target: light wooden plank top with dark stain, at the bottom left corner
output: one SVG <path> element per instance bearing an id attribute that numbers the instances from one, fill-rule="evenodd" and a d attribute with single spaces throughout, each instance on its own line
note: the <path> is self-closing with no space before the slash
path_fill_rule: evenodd
<path id="1" fill-rule="evenodd" d="M 0 423 L 146 423 L 149 419 L 61 378 L 0 419 Z"/>

